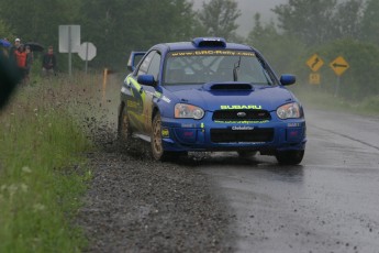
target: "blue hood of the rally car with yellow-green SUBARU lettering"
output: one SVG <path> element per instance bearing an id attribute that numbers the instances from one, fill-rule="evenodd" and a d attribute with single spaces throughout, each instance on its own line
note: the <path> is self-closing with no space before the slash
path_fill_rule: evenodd
<path id="1" fill-rule="evenodd" d="M 167 97 L 209 111 L 224 109 L 263 109 L 274 111 L 294 101 L 293 95 L 281 86 L 252 86 L 252 89 L 212 90 L 204 86 L 165 87 Z"/>

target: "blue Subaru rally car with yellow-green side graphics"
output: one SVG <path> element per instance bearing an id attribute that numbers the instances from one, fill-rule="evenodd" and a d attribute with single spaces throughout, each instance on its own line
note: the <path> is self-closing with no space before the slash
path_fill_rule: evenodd
<path id="1" fill-rule="evenodd" d="M 118 127 L 123 142 L 149 141 L 160 161 L 190 151 L 235 151 L 301 163 L 304 113 L 285 87 L 296 77 L 278 78 L 257 50 L 198 37 L 132 52 L 127 66 Z"/>

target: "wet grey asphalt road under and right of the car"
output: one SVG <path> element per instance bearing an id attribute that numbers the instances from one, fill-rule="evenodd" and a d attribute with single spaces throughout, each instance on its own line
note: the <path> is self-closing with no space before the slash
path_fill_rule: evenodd
<path id="1" fill-rule="evenodd" d="M 233 212 L 236 252 L 379 252 L 379 119 L 306 111 L 301 165 L 214 154 L 199 165 Z"/>

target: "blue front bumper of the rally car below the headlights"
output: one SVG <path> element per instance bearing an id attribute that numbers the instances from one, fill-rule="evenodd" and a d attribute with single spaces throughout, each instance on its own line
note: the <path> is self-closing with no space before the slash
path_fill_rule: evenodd
<path id="1" fill-rule="evenodd" d="M 161 119 L 161 136 L 166 151 L 238 151 L 254 150 L 271 153 L 304 150 L 306 127 L 304 119 L 269 121 L 214 122 L 207 117 Z"/>

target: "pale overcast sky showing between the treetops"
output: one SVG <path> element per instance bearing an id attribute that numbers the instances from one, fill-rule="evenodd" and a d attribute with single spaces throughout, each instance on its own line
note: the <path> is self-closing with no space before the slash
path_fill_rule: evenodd
<path id="1" fill-rule="evenodd" d="M 201 8 L 204 0 L 193 0 L 194 8 Z M 209 2 L 210 0 L 205 0 Z M 238 33 L 246 36 L 254 26 L 254 14 L 259 12 L 261 21 L 268 22 L 275 18 L 272 9 L 281 3 L 287 3 L 288 0 L 236 0 L 238 9 L 242 11 L 242 16 L 237 20 L 239 24 Z"/>

